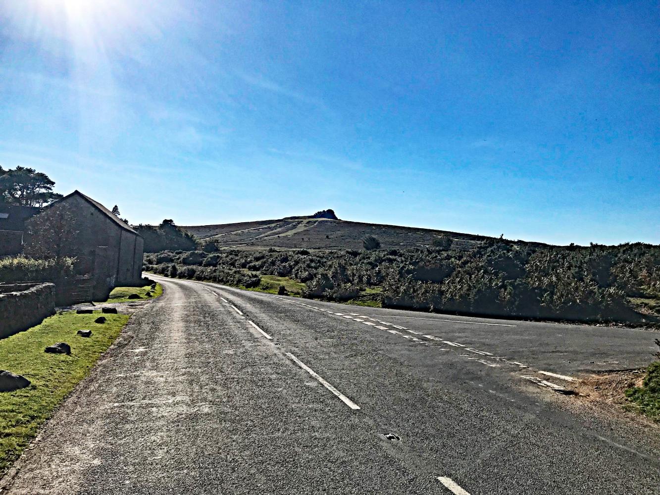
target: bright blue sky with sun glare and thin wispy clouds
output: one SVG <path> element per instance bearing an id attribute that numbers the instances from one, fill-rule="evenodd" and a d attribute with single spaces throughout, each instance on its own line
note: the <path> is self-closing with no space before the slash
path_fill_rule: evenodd
<path id="1" fill-rule="evenodd" d="M 657 2 L 0 4 L 0 165 L 131 222 L 660 243 Z"/>

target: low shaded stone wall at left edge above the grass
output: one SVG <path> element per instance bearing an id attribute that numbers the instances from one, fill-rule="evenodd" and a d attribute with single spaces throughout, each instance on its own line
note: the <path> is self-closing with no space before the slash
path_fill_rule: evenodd
<path id="1" fill-rule="evenodd" d="M 38 325 L 54 308 L 55 284 L 0 284 L 0 339 Z"/>

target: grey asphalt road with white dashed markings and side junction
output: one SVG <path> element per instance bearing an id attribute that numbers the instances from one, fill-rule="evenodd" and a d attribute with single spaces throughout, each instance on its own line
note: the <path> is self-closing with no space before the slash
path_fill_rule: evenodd
<path id="1" fill-rule="evenodd" d="M 548 385 L 657 334 L 159 280 L 3 495 L 660 494 L 657 429 Z"/>

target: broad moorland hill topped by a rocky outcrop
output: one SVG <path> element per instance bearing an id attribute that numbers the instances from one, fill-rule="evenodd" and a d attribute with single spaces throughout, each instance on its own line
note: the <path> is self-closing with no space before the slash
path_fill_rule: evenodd
<path id="1" fill-rule="evenodd" d="M 369 234 L 380 240 L 383 249 L 427 247 L 441 236 L 453 239 L 456 247 L 490 239 L 447 230 L 318 218 L 319 213 L 279 220 L 184 226 L 182 229 L 201 240 L 213 240 L 219 248 L 236 249 L 362 249 L 362 239 Z"/>

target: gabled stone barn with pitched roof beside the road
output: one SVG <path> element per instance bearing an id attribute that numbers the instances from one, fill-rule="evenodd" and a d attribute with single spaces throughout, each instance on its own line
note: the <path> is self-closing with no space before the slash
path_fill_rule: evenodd
<path id="1" fill-rule="evenodd" d="M 92 298 L 105 300 L 115 286 L 131 286 L 142 278 L 144 240 L 123 220 L 113 215 L 101 203 L 80 191 L 55 201 L 40 215 L 26 222 L 32 235 L 39 236 L 33 227 L 47 212 L 67 211 L 75 223 L 75 242 L 69 242 L 65 255 L 76 257 L 77 277 L 91 277 L 94 281 Z"/>

